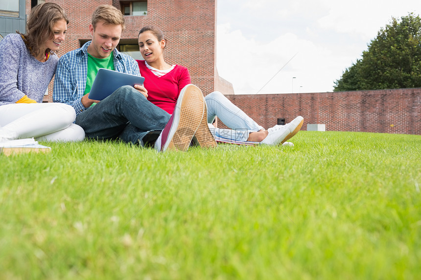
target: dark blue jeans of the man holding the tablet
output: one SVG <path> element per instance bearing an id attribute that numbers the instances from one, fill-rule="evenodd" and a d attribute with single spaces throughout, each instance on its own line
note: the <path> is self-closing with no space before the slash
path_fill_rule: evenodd
<path id="1" fill-rule="evenodd" d="M 144 146 L 146 142 L 154 142 L 158 138 L 169 118 L 167 112 L 150 103 L 135 88 L 122 86 L 94 107 L 77 115 L 75 123 L 85 130 L 88 138 L 119 138 Z"/>

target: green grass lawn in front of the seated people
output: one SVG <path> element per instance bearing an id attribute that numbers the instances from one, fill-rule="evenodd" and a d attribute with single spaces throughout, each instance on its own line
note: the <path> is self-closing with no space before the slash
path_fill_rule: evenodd
<path id="1" fill-rule="evenodd" d="M 421 279 L 421 136 L 0 155 L 0 279 Z"/>

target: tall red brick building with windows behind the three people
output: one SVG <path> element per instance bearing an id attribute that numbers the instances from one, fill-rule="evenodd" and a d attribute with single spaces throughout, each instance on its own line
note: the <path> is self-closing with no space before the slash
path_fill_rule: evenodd
<path id="1" fill-rule="evenodd" d="M 144 25 L 160 27 L 168 40 L 165 60 L 169 64 L 186 66 L 193 84 L 206 95 L 213 90 L 234 92 L 233 86 L 219 78 L 216 70 L 216 0 L 2 0 L 0 10 L 0 35 L 24 32 L 24 22 L 31 7 L 42 2 L 61 5 L 68 17 L 66 42 L 58 55 L 82 46 L 91 40 L 88 26 L 94 9 L 101 4 L 114 5 L 125 15 L 126 29 L 117 49 L 135 59 L 141 59 L 138 32 Z M 19 2 L 17 4 L 16 2 Z M 0 37 L 1 40 L 1 37 Z M 45 102 L 50 102 L 52 83 Z"/>

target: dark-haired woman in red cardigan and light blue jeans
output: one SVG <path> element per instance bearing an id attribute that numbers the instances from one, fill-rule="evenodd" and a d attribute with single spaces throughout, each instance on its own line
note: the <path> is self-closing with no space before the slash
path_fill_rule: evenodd
<path id="1" fill-rule="evenodd" d="M 143 86 L 148 91 L 147 99 L 172 114 L 180 91 L 191 83 L 188 69 L 165 62 L 164 49 L 167 41 L 158 27 L 144 26 L 139 31 L 138 41 L 140 54 L 144 60 L 137 60 L 137 62 L 140 74 L 145 78 Z M 205 101 L 211 133 L 231 140 L 278 145 L 294 136 L 304 122 L 303 117 L 298 116 L 289 124 L 276 125 L 266 130 L 219 91 L 205 96 Z M 231 129 L 214 128 L 211 123 L 216 116 Z"/>

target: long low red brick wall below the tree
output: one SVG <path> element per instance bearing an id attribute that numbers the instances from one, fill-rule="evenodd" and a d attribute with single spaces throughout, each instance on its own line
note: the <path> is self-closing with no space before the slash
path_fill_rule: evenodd
<path id="1" fill-rule="evenodd" d="M 278 118 L 290 122 L 302 115 L 302 130 L 326 124 L 331 131 L 421 135 L 421 88 L 227 97 L 266 129 Z"/>

